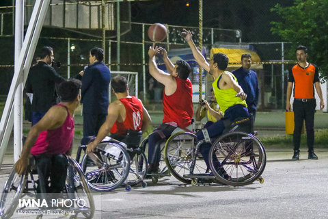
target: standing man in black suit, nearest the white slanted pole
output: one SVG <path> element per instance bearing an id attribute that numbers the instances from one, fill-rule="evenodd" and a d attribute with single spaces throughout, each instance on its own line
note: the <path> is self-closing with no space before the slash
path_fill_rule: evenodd
<path id="1" fill-rule="evenodd" d="M 32 100 L 32 125 L 46 114 L 56 104 L 57 93 L 55 84 L 65 81 L 53 67 L 53 48 L 43 47 L 40 51 L 38 64 L 31 67 L 27 77 L 26 92 L 33 93 Z"/>

